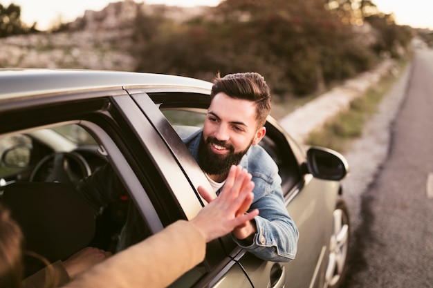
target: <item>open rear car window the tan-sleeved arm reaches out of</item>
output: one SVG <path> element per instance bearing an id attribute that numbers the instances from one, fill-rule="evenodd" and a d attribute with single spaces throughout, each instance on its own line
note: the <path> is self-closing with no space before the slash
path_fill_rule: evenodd
<path id="1" fill-rule="evenodd" d="M 96 140 L 95 137 L 91 136 L 96 135 L 97 137 L 104 138 L 104 136 L 107 136 L 107 131 L 104 131 L 104 134 L 102 134 L 101 131 L 104 129 L 100 128 L 100 131 L 91 131 L 89 126 L 84 128 L 77 126 L 77 124 L 53 124 L 51 127 L 44 126 L 41 129 L 26 130 L 28 130 L 26 134 L 17 133 L 10 135 L 10 133 L 8 137 L 0 138 L 1 154 L 6 155 L 4 158 L 9 166 L 15 165 L 15 167 L 3 167 L 2 165 L 0 171 L 3 181 L 1 182 L 2 187 L 0 189 L 0 202 L 5 204 L 9 209 L 12 209 L 12 215 L 18 215 L 19 219 L 21 219 L 19 215 L 23 215 L 22 221 L 24 222 L 20 221 L 19 224 L 21 229 L 24 229 L 27 240 L 26 244 L 32 251 L 46 257 L 49 262 L 55 262 L 56 260 L 66 260 L 73 253 L 79 251 L 79 249 L 83 248 L 82 244 L 80 244 L 83 241 L 89 241 L 85 242 L 85 246 L 98 247 L 104 251 L 117 253 L 151 235 L 147 222 L 145 222 L 142 213 L 136 206 L 136 202 L 133 201 L 133 197 L 129 193 L 131 191 L 130 188 L 123 186 L 125 180 L 118 173 L 119 170 L 113 168 L 120 164 L 111 162 L 113 158 L 107 157 L 109 155 L 106 144 L 109 144 L 112 139 L 110 141 L 106 139 L 101 142 L 101 140 Z M 60 131 L 61 133 L 55 133 L 62 135 L 62 137 L 67 136 L 68 140 L 77 140 L 76 142 L 86 145 L 71 146 L 70 148 L 73 147 L 73 150 L 68 150 L 64 146 L 64 151 L 55 151 L 53 147 L 59 144 L 55 142 L 62 138 L 51 137 L 53 134 L 50 131 Z M 60 143 L 63 143 L 62 140 L 60 140 Z M 111 147 L 111 151 L 113 149 L 118 148 Z M 115 155 L 112 156 L 115 157 Z M 122 156 L 120 155 L 120 157 Z M 59 159 L 61 159 L 61 165 L 55 164 Z M 111 164 L 114 165 L 112 166 Z M 150 167 L 149 169 L 151 169 Z M 123 168 L 125 170 L 125 166 Z M 62 173 L 53 174 L 57 169 L 63 170 Z M 84 178 L 92 178 L 103 169 L 111 172 L 100 177 L 100 181 L 109 186 L 110 183 L 107 183 L 108 180 L 105 176 L 110 175 L 111 178 L 116 177 L 119 179 L 117 181 L 118 185 L 111 189 L 112 195 L 108 195 L 106 190 L 101 190 L 103 194 L 92 198 L 89 194 L 95 193 L 98 189 L 82 189 L 79 188 L 80 183 Z M 59 184 L 60 189 L 56 195 L 66 195 L 64 194 L 64 191 L 66 191 L 65 187 L 73 189 L 73 193 L 83 196 L 83 198 L 80 198 L 82 199 L 81 201 L 86 202 L 84 206 L 93 211 L 91 213 L 94 213 L 94 215 L 91 218 L 83 220 L 82 216 L 86 214 L 84 212 L 85 209 L 82 207 L 73 209 L 73 205 L 75 205 L 73 201 L 59 204 L 60 202 L 57 202 L 57 198 L 50 198 L 46 202 L 33 201 L 30 198 L 28 200 L 19 198 L 17 199 L 19 201 L 10 200 L 14 199 L 11 195 L 32 195 L 32 199 L 34 197 L 37 199 L 47 198 L 44 195 L 48 191 L 48 188 L 38 189 L 41 185 L 45 186 L 45 183 Z M 33 184 L 37 184 L 37 186 L 33 186 Z M 46 187 L 49 186 L 47 185 Z M 42 190 L 40 191 L 41 193 L 39 193 L 39 190 Z M 39 194 L 42 196 L 39 197 Z M 15 196 L 15 198 L 17 197 L 21 196 Z M 101 202 L 95 203 L 92 202 L 93 200 L 101 200 Z M 34 217 L 33 227 L 28 228 L 28 225 L 26 225 L 28 220 L 26 219 L 28 219 L 28 215 L 34 215 L 30 213 L 30 210 L 33 208 L 35 208 L 35 213 L 47 213 L 49 215 L 48 218 L 44 219 L 58 218 L 63 221 L 63 216 L 59 215 L 56 217 L 50 213 L 52 209 L 50 210 L 49 205 L 52 204 L 64 207 L 60 210 L 68 211 L 69 219 L 76 219 L 76 221 L 74 220 L 75 222 L 72 222 L 75 223 L 74 227 L 77 229 L 74 230 L 70 225 L 57 227 L 52 224 L 53 221 L 42 220 L 39 216 Z M 150 202 L 149 205 L 151 205 Z M 28 215 L 24 211 L 26 210 L 25 207 L 27 209 L 31 208 L 28 211 Z M 55 210 L 57 211 L 58 207 Z M 128 218 L 134 219 L 133 229 L 124 229 Z M 94 224 L 91 224 L 91 222 L 94 222 Z M 94 227 L 94 233 L 89 232 L 93 230 L 92 227 Z M 46 233 L 33 233 L 33 231 L 46 231 Z M 69 235 L 68 233 L 72 231 L 74 231 L 73 235 Z M 124 233 L 123 231 L 126 232 Z M 83 234 L 87 235 L 83 236 Z M 59 240 L 64 235 L 68 235 L 67 240 Z M 89 238 L 89 235 L 91 235 L 91 238 Z M 43 240 L 41 241 L 39 238 Z M 46 245 L 35 245 L 36 241 L 39 243 L 46 242 Z M 66 254 L 63 252 L 57 253 L 58 250 L 66 251 Z M 26 258 L 26 276 L 30 276 L 39 269 L 43 269 L 42 265 L 39 265 L 39 263 L 35 264 L 34 262 L 32 258 Z"/>

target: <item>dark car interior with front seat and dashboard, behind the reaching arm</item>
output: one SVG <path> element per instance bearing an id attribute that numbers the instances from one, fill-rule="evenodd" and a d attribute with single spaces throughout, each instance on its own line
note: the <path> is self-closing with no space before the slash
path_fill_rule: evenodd
<path id="1" fill-rule="evenodd" d="M 62 143 L 62 147 L 71 151 L 56 151 L 52 143 L 56 133 L 60 133 L 57 137 L 69 137 L 71 143 Z M 21 227 L 26 250 L 50 263 L 66 260 L 88 246 L 116 253 L 131 204 L 129 195 L 120 195 L 101 207 L 95 217 L 75 189 L 82 178 L 108 163 L 99 148 L 91 135 L 75 124 L 0 138 L 0 203 Z M 44 265 L 26 257 L 26 276 Z"/>

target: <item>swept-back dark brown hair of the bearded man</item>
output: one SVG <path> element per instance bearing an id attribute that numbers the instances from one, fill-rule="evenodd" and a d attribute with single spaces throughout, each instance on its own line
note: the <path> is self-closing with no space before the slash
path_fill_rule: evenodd
<path id="1" fill-rule="evenodd" d="M 225 93 L 234 99 L 243 99 L 256 104 L 256 119 L 259 126 L 266 123 L 270 113 L 270 89 L 263 76 L 255 72 L 234 73 L 220 77 L 219 73 L 214 79 L 210 92 L 210 101 L 218 93 Z"/>

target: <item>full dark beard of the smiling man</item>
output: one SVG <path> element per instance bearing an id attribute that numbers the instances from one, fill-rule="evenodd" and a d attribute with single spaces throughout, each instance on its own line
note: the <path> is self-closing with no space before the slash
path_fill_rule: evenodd
<path id="1" fill-rule="evenodd" d="M 214 153 L 210 146 L 216 144 L 223 146 L 229 150 L 228 155 L 219 155 Z M 199 165 L 205 173 L 209 175 L 226 175 L 230 171 L 232 165 L 237 165 L 241 161 L 243 155 L 248 151 L 252 144 L 252 140 L 248 147 L 241 152 L 234 153 L 234 148 L 232 145 L 227 144 L 225 141 L 216 140 L 214 137 L 208 137 L 205 141 L 203 135 L 201 135 L 199 144 Z"/>

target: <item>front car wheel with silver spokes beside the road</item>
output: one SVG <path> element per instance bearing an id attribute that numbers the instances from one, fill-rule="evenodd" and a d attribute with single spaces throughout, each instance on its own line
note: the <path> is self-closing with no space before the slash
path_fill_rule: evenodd
<path id="1" fill-rule="evenodd" d="M 342 198 L 338 198 L 333 211 L 333 231 L 329 241 L 329 261 L 325 273 L 325 288 L 339 287 L 347 266 L 349 250 L 349 210 Z"/>

